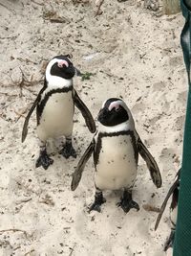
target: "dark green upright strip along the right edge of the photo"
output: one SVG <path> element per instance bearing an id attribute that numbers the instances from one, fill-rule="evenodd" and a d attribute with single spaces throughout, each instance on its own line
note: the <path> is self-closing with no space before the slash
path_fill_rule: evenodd
<path id="1" fill-rule="evenodd" d="M 183 155 L 180 174 L 178 221 L 173 256 L 191 256 L 191 0 L 180 0 L 185 25 L 180 35 L 184 62 L 188 74 L 188 98 L 183 139 Z M 188 9 L 190 7 L 190 10 Z"/>

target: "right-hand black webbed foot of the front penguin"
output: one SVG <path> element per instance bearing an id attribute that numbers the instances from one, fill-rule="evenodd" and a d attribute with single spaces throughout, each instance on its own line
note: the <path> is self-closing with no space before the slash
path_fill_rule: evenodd
<path id="1" fill-rule="evenodd" d="M 128 213 L 132 208 L 139 210 L 138 203 L 132 199 L 132 192 L 125 190 L 122 198 L 117 202 L 117 206 L 121 207 L 125 213 Z"/>

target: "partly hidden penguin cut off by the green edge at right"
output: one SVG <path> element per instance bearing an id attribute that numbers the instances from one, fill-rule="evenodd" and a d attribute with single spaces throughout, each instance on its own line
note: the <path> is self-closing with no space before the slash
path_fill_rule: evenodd
<path id="1" fill-rule="evenodd" d="M 166 208 L 166 204 L 168 199 L 172 196 L 172 201 L 170 204 L 170 221 L 171 221 L 171 233 L 166 243 L 164 244 L 164 251 L 166 251 L 169 247 L 171 247 L 174 243 L 175 238 L 175 230 L 176 230 L 176 223 L 177 223 L 177 214 L 178 214 L 178 201 L 179 201 L 179 190 L 180 190 L 180 170 L 176 175 L 176 180 L 170 187 L 166 198 L 160 207 L 159 216 L 155 224 L 155 230 L 157 230 L 159 226 L 159 221 L 161 220 L 162 214 Z"/>

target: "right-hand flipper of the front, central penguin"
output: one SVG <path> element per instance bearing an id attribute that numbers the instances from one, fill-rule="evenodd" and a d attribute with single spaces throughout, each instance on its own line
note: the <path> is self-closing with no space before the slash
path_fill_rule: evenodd
<path id="1" fill-rule="evenodd" d="M 161 175 L 159 173 L 159 167 L 158 164 L 156 163 L 156 160 L 150 153 L 150 151 L 147 150 L 145 145 L 142 143 L 140 140 L 140 137 L 138 136 L 138 152 L 146 162 L 146 165 L 149 169 L 151 178 L 153 179 L 154 184 L 156 185 L 157 188 L 161 187 Z"/>

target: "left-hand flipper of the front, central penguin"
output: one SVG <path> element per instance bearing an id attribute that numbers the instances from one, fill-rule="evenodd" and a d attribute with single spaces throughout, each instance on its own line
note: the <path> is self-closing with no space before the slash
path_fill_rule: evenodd
<path id="1" fill-rule="evenodd" d="M 71 183 L 71 190 L 74 191 L 76 187 L 79 184 L 79 181 L 81 179 L 82 173 L 84 171 L 85 165 L 87 161 L 89 160 L 90 156 L 92 155 L 94 149 L 96 146 L 95 139 L 92 140 L 91 144 L 88 146 L 87 150 L 82 155 L 81 159 L 79 160 L 77 167 L 75 168 L 73 180 Z"/>

